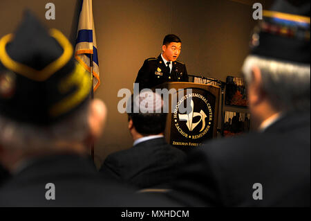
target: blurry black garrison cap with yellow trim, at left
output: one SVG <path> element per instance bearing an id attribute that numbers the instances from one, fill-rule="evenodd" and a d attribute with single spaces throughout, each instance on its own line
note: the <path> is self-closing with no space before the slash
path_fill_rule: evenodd
<path id="1" fill-rule="evenodd" d="M 0 39 L 0 115 L 50 125 L 89 98 L 90 74 L 73 58 L 73 47 L 26 11 L 15 34 Z"/>

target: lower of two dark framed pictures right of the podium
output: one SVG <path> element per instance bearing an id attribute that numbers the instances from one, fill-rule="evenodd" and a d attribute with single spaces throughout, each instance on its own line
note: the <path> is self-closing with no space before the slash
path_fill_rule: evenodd
<path id="1" fill-rule="evenodd" d="M 224 136 L 234 136 L 249 132 L 250 114 L 247 112 L 225 112 Z"/>

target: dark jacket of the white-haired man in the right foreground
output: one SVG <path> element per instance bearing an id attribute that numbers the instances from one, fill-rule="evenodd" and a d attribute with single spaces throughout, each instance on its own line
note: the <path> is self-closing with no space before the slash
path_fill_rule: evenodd
<path id="1" fill-rule="evenodd" d="M 187 206 L 310 206 L 310 113 L 206 143 L 182 172 L 170 196 Z"/>

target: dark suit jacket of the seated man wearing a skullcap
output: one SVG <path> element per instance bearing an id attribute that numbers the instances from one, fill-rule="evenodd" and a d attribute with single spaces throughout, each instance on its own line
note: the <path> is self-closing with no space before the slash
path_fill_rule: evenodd
<path id="1" fill-rule="evenodd" d="M 138 188 L 162 187 L 178 173 L 186 154 L 164 138 L 138 143 L 133 148 L 110 154 L 100 172 Z"/>

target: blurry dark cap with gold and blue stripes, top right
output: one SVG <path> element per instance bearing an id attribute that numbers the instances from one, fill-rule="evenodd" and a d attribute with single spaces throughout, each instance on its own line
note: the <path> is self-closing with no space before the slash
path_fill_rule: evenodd
<path id="1" fill-rule="evenodd" d="M 310 1 L 276 0 L 254 28 L 251 53 L 310 64 Z"/>

